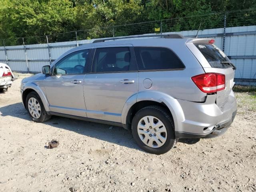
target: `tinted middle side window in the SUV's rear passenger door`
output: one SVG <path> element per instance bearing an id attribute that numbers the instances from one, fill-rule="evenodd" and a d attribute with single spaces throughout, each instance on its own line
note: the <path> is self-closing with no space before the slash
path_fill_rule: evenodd
<path id="1" fill-rule="evenodd" d="M 97 48 L 92 72 L 122 72 L 135 70 L 129 47 Z"/>

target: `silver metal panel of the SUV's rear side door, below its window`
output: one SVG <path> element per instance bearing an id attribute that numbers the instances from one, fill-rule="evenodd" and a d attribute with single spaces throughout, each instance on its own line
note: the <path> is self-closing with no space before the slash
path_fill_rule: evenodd
<path id="1" fill-rule="evenodd" d="M 124 79 L 134 83 L 120 83 Z M 138 92 L 138 72 L 86 74 L 84 90 L 88 118 L 121 122 L 124 103 Z"/>

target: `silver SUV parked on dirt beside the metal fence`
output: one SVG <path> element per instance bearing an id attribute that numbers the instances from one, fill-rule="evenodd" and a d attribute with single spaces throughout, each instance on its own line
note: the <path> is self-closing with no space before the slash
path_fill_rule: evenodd
<path id="1" fill-rule="evenodd" d="M 56 115 L 122 126 L 163 154 L 178 138 L 220 136 L 234 120 L 235 66 L 213 43 L 177 34 L 96 40 L 24 78 L 22 101 L 35 122 Z"/>

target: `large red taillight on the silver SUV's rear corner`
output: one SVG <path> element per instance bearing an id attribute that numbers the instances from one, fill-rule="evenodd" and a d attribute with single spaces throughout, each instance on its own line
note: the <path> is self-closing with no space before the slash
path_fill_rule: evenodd
<path id="1" fill-rule="evenodd" d="M 219 73 L 205 73 L 194 76 L 192 81 L 204 93 L 214 93 L 225 89 L 225 75 Z"/>

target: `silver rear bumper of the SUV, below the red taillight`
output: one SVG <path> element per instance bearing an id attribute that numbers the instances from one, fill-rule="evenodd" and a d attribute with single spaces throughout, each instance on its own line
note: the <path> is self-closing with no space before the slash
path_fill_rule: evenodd
<path id="1" fill-rule="evenodd" d="M 176 138 L 214 138 L 226 132 L 236 116 L 236 98 L 230 93 L 225 108 L 215 104 L 216 96 L 207 96 L 206 102 L 179 100 L 184 121 L 175 128 Z"/>

